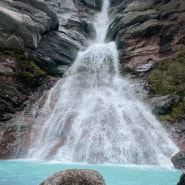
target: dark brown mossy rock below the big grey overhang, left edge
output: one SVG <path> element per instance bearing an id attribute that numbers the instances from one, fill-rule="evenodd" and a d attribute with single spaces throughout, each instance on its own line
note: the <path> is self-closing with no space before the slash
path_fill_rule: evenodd
<path id="1" fill-rule="evenodd" d="M 16 50 L 0 48 L 0 121 L 24 107 L 24 101 L 48 78 L 36 61 Z"/>

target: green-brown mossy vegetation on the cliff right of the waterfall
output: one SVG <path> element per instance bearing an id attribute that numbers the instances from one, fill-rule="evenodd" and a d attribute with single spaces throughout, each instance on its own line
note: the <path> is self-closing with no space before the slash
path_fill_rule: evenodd
<path id="1" fill-rule="evenodd" d="M 149 75 L 148 83 L 153 94 L 176 94 L 179 97 L 170 113 L 161 115 L 161 119 L 174 121 L 182 117 L 185 114 L 185 50 L 169 61 L 158 63 Z"/>

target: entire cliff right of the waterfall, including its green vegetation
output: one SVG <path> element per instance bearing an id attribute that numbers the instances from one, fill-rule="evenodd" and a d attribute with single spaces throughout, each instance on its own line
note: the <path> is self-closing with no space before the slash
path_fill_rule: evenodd
<path id="1" fill-rule="evenodd" d="M 115 40 L 123 72 L 143 77 L 154 114 L 185 150 L 185 3 L 111 1 L 107 40 Z"/>

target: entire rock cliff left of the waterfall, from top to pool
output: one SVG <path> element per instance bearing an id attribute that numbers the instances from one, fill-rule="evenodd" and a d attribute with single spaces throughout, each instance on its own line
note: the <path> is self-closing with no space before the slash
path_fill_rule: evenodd
<path id="1" fill-rule="evenodd" d="M 15 115 L 29 107 L 32 99 L 26 100 L 44 83 L 51 87 L 48 76 L 61 77 L 78 51 L 95 37 L 93 15 L 100 4 L 86 0 L 0 1 L 1 159 L 20 154 L 16 151 L 18 138 L 25 138 L 20 149 L 24 155 L 32 122 L 16 125 Z"/>

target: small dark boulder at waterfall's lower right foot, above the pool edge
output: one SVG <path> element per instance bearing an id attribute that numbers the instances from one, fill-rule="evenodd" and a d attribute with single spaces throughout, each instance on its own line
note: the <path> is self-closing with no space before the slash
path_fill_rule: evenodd
<path id="1" fill-rule="evenodd" d="M 185 151 L 180 151 L 175 154 L 171 161 L 176 169 L 183 170 L 185 169 Z"/>

